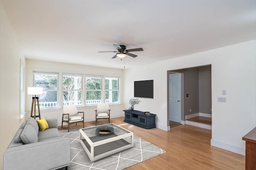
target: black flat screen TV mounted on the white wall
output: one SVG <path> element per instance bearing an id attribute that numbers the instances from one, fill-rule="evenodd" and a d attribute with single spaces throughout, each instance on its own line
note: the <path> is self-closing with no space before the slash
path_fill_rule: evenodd
<path id="1" fill-rule="evenodd" d="M 154 98 L 154 80 L 134 81 L 134 97 Z"/>

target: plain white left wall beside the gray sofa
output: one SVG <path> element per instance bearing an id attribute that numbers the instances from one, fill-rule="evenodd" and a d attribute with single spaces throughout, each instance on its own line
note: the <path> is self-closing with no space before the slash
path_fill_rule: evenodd
<path id="1" fill-rule="evenodd" d="M 3 154 L 20 127 L 21 53 L 12 25 L 0 1 L 0 169 Z"/>

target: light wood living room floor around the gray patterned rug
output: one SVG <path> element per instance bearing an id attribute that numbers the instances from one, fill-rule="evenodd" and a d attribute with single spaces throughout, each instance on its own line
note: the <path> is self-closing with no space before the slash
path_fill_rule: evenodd
<path id="1" fill-rule="evenodd" d="M 166 153 L 126 168 L 126 170 L 244 170 L 245 156 L 210 146 L 211 130 L 190 125 L 179 125 L 170 131 L 143 129 L 113 118 L 111 123 L 121 125 L 138 137 L 164 149 Z M 86 126 L 95 125 L 86 122 Z M 102 121 L 102 124 L 107 121 Z M 82 127 L 81 123 L 70 128 Z M 59 130 L 63 129 L 58 127 Z"/>

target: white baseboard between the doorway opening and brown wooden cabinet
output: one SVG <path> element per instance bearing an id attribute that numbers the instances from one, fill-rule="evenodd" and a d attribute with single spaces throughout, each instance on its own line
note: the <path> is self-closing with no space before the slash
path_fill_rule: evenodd
<path id="1" fill-rule="evenodd" d="M 214 139 L 211 139 L 211 145 L 214 146 L 214 147 L 218 147 L 218 148 L 221 148 L 221 149 L 229 150 L 231 152 L 235 152 L 235 153 L 238 153 L 238 154 L 245 155 L 245 148 L 240 148 L 240 147 L 237 147 L 237 146 L 234 146 L 234 145 L 230 145 L 228 143 L 223 143 L 223 142 L 220 142 L 220 141 L 216 141 Z"/>

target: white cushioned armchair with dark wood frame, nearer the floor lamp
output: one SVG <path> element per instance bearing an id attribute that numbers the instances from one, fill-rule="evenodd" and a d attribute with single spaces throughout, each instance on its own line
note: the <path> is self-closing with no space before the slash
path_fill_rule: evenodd
<path id="1" fill-rule="evenodd" d="M 79 113 L 83 113 L 83 116 L 80 116 Z M 73 123 L 83 123 L 84 128 L 84 111 L 77 111 L 76 106 L 69 105 L 63 107 L 63 114 L 62 114 L 62 123 L 61 127 L 63 125 L 63 122 L 68 123 L 68 131 L 69 131 L 69 125 Z"/>

